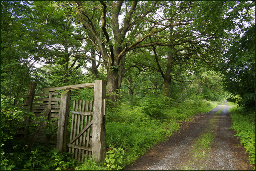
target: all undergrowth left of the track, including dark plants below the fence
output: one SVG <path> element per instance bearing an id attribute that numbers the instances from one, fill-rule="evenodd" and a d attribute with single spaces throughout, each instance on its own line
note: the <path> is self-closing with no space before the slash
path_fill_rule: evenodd
<path id="1" fill-rule="evenodd" d="M 40 145 L 34 145 L 30 151 L 24 143 L 15 143 L 10 135 L 15 124 L 2 124 L 1 131 L 7 130 L 8 134 L 4 139 L 1 137 L 1 170 L 65 170 L 70 167 L 75 170 L 120 170 L 157 143 L 166 141 L 179 130 L 181 120 L 208 112 L 219 103 L 200 99 L 174 103 L 172 99 L 154 98 L 154 92 L 145 98 L 136 105 L 121 103 L 118 107 L 107 108 L 105 163 L 87 159 L 81 164 L 72 159 L 70 153 L 58 154 L 57 149 Z M 10 108 L 7 103 L 1 103 L 1 115 L 4 105 L 8 107 L 6 111 Z M 14 114 L 12 116 L 16 116 Z M 10 119 L 8 121 L 11 122 Z M 16 121 L 15 118 L 12 121 Z"/>

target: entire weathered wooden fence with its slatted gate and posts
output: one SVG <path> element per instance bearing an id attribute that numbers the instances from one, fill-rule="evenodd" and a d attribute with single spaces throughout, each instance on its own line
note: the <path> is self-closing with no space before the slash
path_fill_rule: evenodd
<path id="1" fill-rule="evenodd" d="M 26 137 L 28 135 L 27 128 L 23 132 L 25 138 L 28 139 L 29 148 L 32 147 L 35 141 L 49 143 L 47 137 L 43 135 L 45 130 L 42 127 L 46 127 L 46 119 L 58 118 L 58 123 L 56 123 L 58 124 L 58 131 L 54 142 L 56 143 L 56 148 L 60 150 L 59 153 L 66 151 L 68 146 L 70 148 L 69 151 L 73 153 L 74 159 L 84 161 L 84 157 L 92 157 L 97 162 L 104 162 L 106 157 L 106 81 L 95 80 L 94 83 L 50 87 L 42 89 L 42 91 L 48 91 L 48 93 L 38 94 L 34 93 L 35 87 L 36 84 L 30 84 L 28 95 L 20 96 L 27 97 L 26 102 L 23 104 L 24 108 L 34 112 L 36 116 L 44 116 L 44 119 L 38 124 L 37 130 L 30 134 L 30 138 Z M 74 100 L 73 111 L 69 111 L 71 90 L 86 87 L 94 87 L 94 101 Z M 58 92 L 54 91 L 63 89 L 61 97 L 54 97 L 54 95 L 59 95 Z M 38 98 L 40 96 L 48 97 Z M 70 142 L 67 143 L 69 113 L 72 113 L 72 128 Z M 26 125 L 30 121 L 32 120 L 28 117 Z"/>

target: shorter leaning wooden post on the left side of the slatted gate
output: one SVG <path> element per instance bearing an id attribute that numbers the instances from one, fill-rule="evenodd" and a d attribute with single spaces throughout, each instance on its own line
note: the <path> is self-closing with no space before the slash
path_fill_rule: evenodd
<path id="1" fill-rule="evenodd" d="M 69 89 L 66 89 L 61 93 L 60 113 L 59 113 L 58 132 L 57 132 L 57 145 L 56 145 L 56 148 L 60 150 L 58 153 L 63 153 L 64 151 L 66 151 L 70 94 L 71 94 L 71 91 Z"/>

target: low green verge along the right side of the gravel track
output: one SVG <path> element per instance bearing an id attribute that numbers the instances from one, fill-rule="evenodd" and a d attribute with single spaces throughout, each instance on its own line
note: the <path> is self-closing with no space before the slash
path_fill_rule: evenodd
<path id="1" fill-rule="evenodd" d="M 250 155 L 251 164 L 255 165 L 255 111 L 250 115 L 242 115 L 242 108 L 233 107 L 230 110 L 232 117 L 232 127 L 236 130 L 236 135 L 241 139 L 241 144 Z"/>

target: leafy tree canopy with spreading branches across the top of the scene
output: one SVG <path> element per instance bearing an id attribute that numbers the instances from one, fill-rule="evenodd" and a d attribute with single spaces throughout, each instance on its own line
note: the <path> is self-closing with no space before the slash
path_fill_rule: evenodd
<path id="1" fill-rule="evenodd" d="M 219 99 L 222 74 L 230 100 L 252 105 L 254 16 L 253 1 L 2 1 L 1 93 L 106 79 L 112 102 Z"/>

